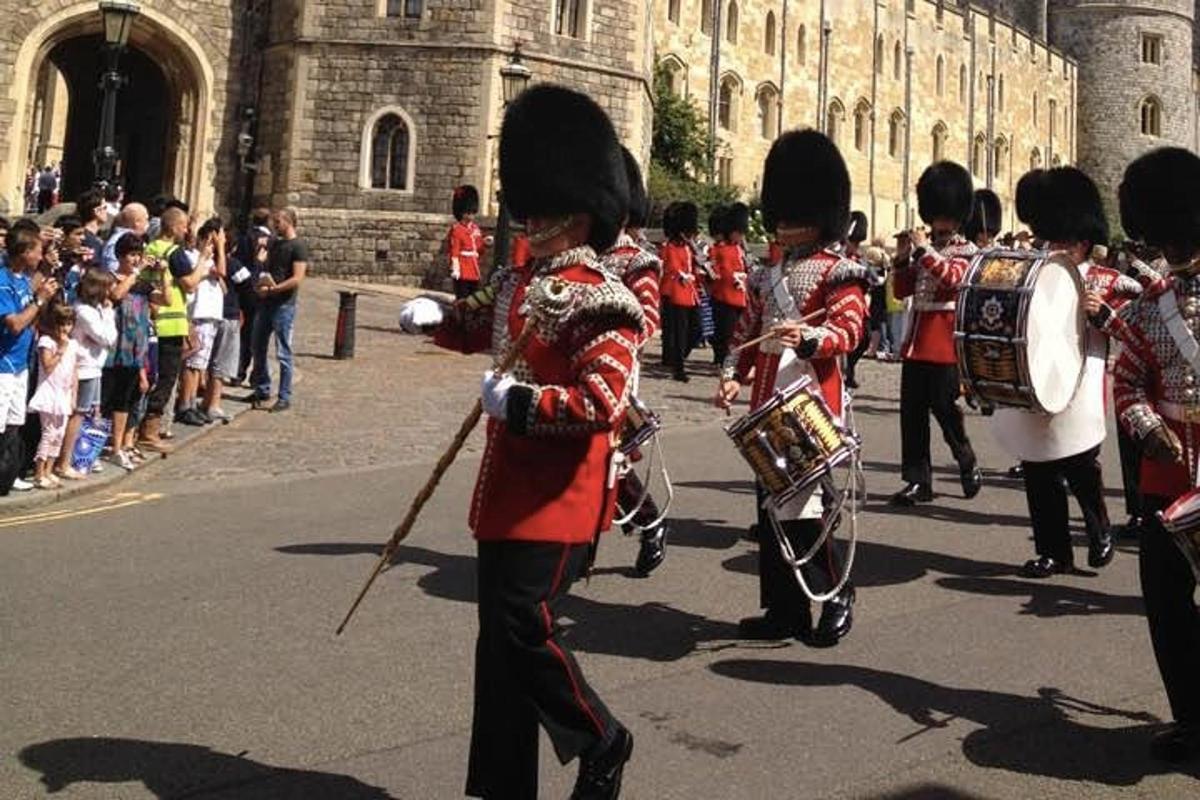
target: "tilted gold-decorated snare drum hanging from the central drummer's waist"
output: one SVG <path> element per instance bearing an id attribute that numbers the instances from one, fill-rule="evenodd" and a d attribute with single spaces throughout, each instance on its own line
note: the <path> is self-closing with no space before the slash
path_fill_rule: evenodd
<path id="1" fill-rule="evenodd" d="M 838 423 L 810 377 L 775 392 L 725 432 L 776 509 L 830 474 L 860 446 L 858 438 Z"/>

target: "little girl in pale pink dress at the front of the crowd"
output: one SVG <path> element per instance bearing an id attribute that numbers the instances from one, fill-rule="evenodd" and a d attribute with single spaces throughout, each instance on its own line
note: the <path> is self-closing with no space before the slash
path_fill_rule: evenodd
<path id="1" fill-rule="evenodd" d="M 34 459 L 34 486 L 53 489 L 59 486 L 54 462 L 62 450 L 67 419 L 74 408 L 78 343 L 71 338 L 74 309 L 64 302 L 52 302 L 38 319 L 37 391 L 29 401 L 29 410 L 37 411 L 42 437 Z"/>

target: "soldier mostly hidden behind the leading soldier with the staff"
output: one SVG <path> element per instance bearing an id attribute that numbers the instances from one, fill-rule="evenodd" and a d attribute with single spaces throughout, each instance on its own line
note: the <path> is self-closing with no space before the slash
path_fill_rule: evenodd
<path id="1" fill-rule="evenodd" d="M 642 306 L 642 315 L 646 326 L 638 339 L 638 365 L 635 368 L 631 380 L 630 393 L 637 393 L 637 383 L 641 374 L 641 351 L 646 343 L 659 330 L 659 281 L 662 276 L 662 263 L 652 249 L 648 248 L 642 236 L 642 228 L 649 216 L 649 200 L 646 197 L 646 187 L 642 184 L 642 170 L 637 166 L 634 154 L 622 148 L 625 157 L 625 179 L 629 182 L 629 215 L 625 219 L 625 228 L 617 236 L 616 243 L 604 254 L 601 263 L 605 270 L 620 279 Z M 654 498 L 646 493 L 646 487 L 637 473 L 626 470 L 618 483 L 618 507 L 623 510 L 637 509 L 632 518 L 625 523 L 626 534 L 637 533 L 641 546 L 637 551 L 637 560 L 634 561 L 634 571 L 646 577 L 653 572 L 666 557 L 667 527 L 662 523 L 662 515 Z"/>

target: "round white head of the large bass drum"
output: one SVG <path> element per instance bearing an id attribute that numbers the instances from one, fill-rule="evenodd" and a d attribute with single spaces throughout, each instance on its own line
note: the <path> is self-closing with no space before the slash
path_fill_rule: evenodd
<path id="1" fill-rule="evenodd" d="M 1084 372 L 1084 325 L 1080 278 L 1075 267 L 1057 260 L 1042 265 L 1030 297 L 1030 383 L 1048 414 L 1070 404 Z"/>

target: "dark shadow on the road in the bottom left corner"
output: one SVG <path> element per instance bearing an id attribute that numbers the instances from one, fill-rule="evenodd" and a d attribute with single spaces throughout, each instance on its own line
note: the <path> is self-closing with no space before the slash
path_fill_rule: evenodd
<path id="1" fill-rule="evenodd" d="M 140 783 L 156 798 L 205 800 L 395 800 L 349 775 L 271 766 L 200 745 L 138 739 L 55 739 L 30 745 L 20 763 L 49 794 L 76 783 Z M 121 796 L 113 794 L 110 796 Z"/>

